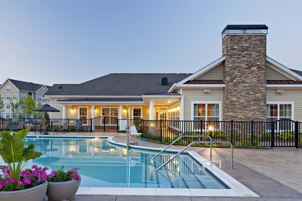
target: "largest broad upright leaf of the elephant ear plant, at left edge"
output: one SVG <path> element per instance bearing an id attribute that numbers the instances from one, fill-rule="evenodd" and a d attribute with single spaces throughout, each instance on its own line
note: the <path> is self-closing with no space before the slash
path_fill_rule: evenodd
<path id="1" fill-rule="evenodd" d="M 2 149 L 0 155 L 4 162 L 20 162 L 24 152 L 23 139 L 15 133 L 11 135 L 10 132 L 2 132 L 1 137 L 0 147 L 2 147 Z"/>

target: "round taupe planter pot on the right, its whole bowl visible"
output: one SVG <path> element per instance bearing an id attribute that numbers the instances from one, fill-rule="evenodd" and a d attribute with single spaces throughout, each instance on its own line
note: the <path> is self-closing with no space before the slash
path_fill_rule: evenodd
<path id="1" fill-rule="evenodd" d="M 64 181 L 64 182 L 48 182 L 46 195 L 48 201 L 68 201 L 75 197 L 81 184 L 80 180 Z"/>

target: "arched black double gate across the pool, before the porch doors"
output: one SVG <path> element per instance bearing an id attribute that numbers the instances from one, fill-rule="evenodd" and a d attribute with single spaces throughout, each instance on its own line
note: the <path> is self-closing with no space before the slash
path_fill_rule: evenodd
<path id="1" fill-rule="evenodd" d="M 92 131 L 118 131 L 118 118 L 114 117 L 95 117 L 91 119 Z"/>

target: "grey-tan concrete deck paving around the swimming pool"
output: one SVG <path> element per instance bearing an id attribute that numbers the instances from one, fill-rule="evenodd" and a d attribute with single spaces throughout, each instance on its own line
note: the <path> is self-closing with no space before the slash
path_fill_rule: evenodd
<path id="1" fill-rule="evenodd" d="M 114 140 L 126 142 L 125 133 L 59 133 L 61 136 L 116 136 Z M 34 135 L 37 136 L 37 135 Z M 44 135 L 45 136 L 45 135 Z M 54 135 L 56 136 L 56 135 Z M 53 135 L 50 135 L 53 137 Z M 132 138 L 131 142 L 139 142 L 139 146 L 165 148 L 166 145 L 139 141 Z M 171 149 L 182 149 L 183 146 L 171 146 Z M 209 148 L 190 147 L 206 159 L 209 159 Z M 260 197 L 196 197 L 196 196 L 105 196 L 77 195 L 74 200 L 302 200 L 302 190 L 299 182 L 302 149 L 234 149 L 234 168 L 230 167 L 230 149 L 213 148 L 213 160 L 222 161 L 222 170 L 237 181 L 244 184 Z M 218 163 L 214 163 L 218 165 Z M 293 181 L 295 182 L 293 182 Z M 294 190 L 295 189 L 295 190 Z M 299 191 L 299 192 L 298 192 Z"/>

